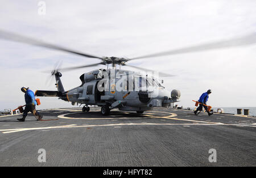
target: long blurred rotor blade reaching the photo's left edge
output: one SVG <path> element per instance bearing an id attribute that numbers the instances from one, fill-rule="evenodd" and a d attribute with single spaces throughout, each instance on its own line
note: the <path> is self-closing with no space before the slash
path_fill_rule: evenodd
<path id="1" fill-rule="evenodd" d="M 35 39 L 30 38 L 30 37 L 18 35 L 16 33 L 12 33 L 12 32 L 2 31 L 1 29 L 0 29 L 0 39 L 9 40 L 9 41 L 16 41 L 16 42 L 26 43 L 26 44 L 36 45 L 36 46 L 42 46 L 42 47 L 48 48 L 48 49 L 61 50 L 61 51 L 68 52 L 68 53 L 78 54 L 78 55 L 84 56 L 84 57 L 101 59 L 101 57 L 97 57 L 97 56 L 86 54 L 86 53 L 77 52 L 75 50 L 63 48 L 63 47 L 57 46 L 57 45 L 44 43 L 43 41 L 35 40 Z"/>

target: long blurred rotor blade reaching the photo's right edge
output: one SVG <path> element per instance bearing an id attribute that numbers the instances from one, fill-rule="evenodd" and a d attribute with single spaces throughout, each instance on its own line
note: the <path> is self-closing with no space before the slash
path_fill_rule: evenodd
<path id="1" fill-rule="evenodd" d="M 210 49 L 230 48 L 234 46 L 245 46 L 245 45 L 251 45 L 255 43 L 256 43 L 256 33 L 251 33 L 249 35 L 237 37 L 234 39 L 216 41 L 213 43 L 205 43 L 205 44 L 190 46 L 187 48 L 180 48 L 175 50 L 169 50 L 166 52 L 139 56 L 139 57 L 131 58 L 130 60 L 138 60 L 138 59 L 149 58 L 149 57 L 168 56 L 168 55 L 174 55 L 174 54 L 184 54 L 184 53 L 191 53 L 191 52 L 200 52 L 200 51 L 210 50 Z"/>

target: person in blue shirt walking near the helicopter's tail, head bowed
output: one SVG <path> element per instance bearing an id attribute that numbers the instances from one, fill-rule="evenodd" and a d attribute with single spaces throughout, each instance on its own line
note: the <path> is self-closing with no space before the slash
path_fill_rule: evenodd
<path id="1" fill-rule="evenodd" d="M 32 90 L 28 90 L 28 88 L 25 88 L 25 87 L 22 87 L 20 89 L 22 92 L 25 93 L 26 107 L 23 112 L 23 117 L 17 118 L 17 120 L 20 122 L 24 122 L 25 118 L 27 116 L 27 113 L 31 112 L 36 117 L 36 119 L 38 121 L 40 121 L 43 118 L 43 116 L 40 116 L 39 113 L 35 109 L 36 100 L 35 100 L 34 92 L 32 92 Z"/>

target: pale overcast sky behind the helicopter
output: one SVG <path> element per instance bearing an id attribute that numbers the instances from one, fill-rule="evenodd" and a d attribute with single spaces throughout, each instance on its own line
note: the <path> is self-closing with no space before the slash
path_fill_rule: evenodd
<path id="1" fill-rule="evenodd" d="M 138 57 L 256 32 L 256 1 L 0 0 L 0 29 L 96 56 Z M 255 33 L 256 34 L 256 33 Z M 213 107 L 256 107 L 256 44 L 152 57 L 128 64 L 175 75 L 164 87 L 180 90 L 178 105 L 212 90 Z M 0 110 L 24 104 L 23 86 L 56 90 L 47 83 L 56 62 L 62 67 L 100 60 L 12 41 L 0 40 Z M 105 66 L 63 72 L 65 90 L 79 86 L 80 75 Z M 125 70 L 134 70 L 122 67 Z M 72 107 L 57 98 L 40 98 L 38 109 Z"/>

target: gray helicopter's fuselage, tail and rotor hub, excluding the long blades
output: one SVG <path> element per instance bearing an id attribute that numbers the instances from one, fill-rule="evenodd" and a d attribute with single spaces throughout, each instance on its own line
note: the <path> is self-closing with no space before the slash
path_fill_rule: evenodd
<path id="1" fill-rule="evenodd" d="M 57 91 L 37 90 L 35 96 L 57 96 L 64 101 L 71 101 L 72 105 L 85 104 L 82 107 L 83 112 L 90 111 L 88 105 L 97 105 L 101 107 L 101 114 L 104 116 L 109 115 L 114 108 L 141 114 L 154 107 L 168 107 L 180 98 L 179 90 L 166 90 L 154 75 L 116 69 L 117 64 L 125 65 L 125 60 L 127 59 L 115 57 L 102 59 L 102 63 L 111 63 L 112 69 L 84 73 L 80 76 L 81 85 L 68 91 L 64 90 L 61 83 L 60 71 L 71 70 L 73 67 L 55 69 L 51 74 L 56 79 Z M 152 73 L 158 74 L 156 71 Z M 164 73 L 160 75 L 172 76 Z"/>

